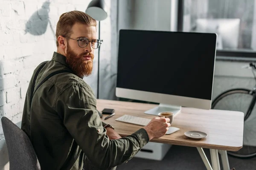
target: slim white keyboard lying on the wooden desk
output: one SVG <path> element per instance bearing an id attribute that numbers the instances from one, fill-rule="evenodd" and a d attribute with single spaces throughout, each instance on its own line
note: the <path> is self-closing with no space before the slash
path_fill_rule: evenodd
<path id="1" fill-rule="evenodd" d="M 131 123 L 131 124 L 141 125 L 141 126 L 148 125 L 148 123 L 151 121 L 151 119 L 146 119 L 146 118 L 137 117 L 137 116 L 130 116 L 126 114 L 115 120 L 119 122 Z"/>

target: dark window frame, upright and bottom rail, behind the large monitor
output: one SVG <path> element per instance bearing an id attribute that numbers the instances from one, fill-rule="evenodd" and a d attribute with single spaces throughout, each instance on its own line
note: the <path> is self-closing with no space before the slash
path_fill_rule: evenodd
<path id="1" fill-rule="evenodd" d="M 184 0 L 178 0 L 177 5 L 177 31 L 183 31 L 183 8 Z M 244 58 L 244 59 L 243 59 Z M 247 58 L 247 59 L 246 59 Z M 256 60 L 256 51 L 247 50 L 216 50 L 216 59 L 221 60 Z"/>

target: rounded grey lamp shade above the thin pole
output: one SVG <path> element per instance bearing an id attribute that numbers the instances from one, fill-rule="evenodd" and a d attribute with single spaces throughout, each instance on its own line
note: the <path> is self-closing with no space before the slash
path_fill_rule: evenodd
<path id="1" fill-rule="evenodd" d="M 108 14 L 106 11 L 104 0 L 92 0 L 87 6 L 85 13 L 93 17 L 95 20 L 101 21 L 107 18 Z"/>

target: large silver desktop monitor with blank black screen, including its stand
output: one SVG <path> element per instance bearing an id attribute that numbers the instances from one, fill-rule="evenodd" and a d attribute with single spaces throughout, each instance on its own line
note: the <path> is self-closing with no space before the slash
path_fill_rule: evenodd
<path id="1" fill-rule="evenodd" d="M 216 34 L 120 30 L 116 96 L 157 102 L 145 111 L 210 109 Z"/>

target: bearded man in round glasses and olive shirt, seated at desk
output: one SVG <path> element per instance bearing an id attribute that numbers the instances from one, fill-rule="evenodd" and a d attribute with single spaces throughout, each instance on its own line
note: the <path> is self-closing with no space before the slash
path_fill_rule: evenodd
<path id="1" fill-rule="evenodd" d="M 121 138 L 101 121 L 93 91 L 83 80 L 92 72 L 94 49 L 101 45 L 96 35 L 96 20 L 89 15 L 62 14 L 56 28 L 57 52 L 32 75 L 21 129 L 42 170 L 109 170 L 133 158 L 170 126 L 169 118 L 157 117 Z"/>

